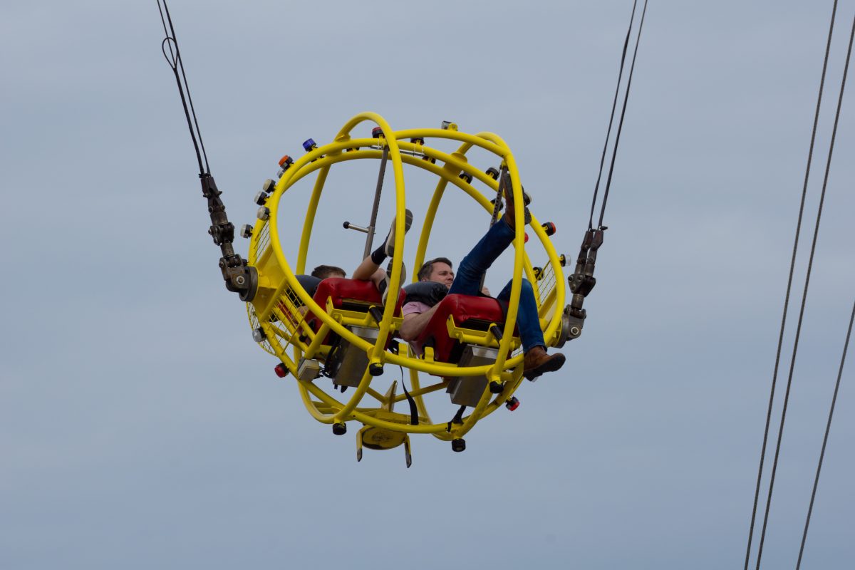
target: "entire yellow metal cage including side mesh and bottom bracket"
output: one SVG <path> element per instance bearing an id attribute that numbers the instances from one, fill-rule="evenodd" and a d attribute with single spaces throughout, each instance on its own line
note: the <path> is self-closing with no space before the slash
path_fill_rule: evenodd
<path id="1" fill-rule="evenodd" d="M 351 131 L 363 122 L 372 122 L 382 132 L 378 138 L 351 138 Z M 349 120 L 339 131 L 333 142 L 318 146 L 295 160 L 280 176 L 275 190 L 265 207 L 268 216 L 262 216 L 256 223 L 251 235 L 249 262 L 257 268 L 258 290 L 251 303 L 247 303 L 250 322 L 253 329 L 263 331 L 262 349 L 276 356 L 286 370 L 297 380 L 298 389 L 309 413 L 322 423 L 344 426 L 345 422 L 356 420 L 364 426 L 357 435 L 357 456 L 362 456 L 363 444 L 371 449 L 389 449 L 405 444 L 408 465 L 410 464 L 409 433 L 430 433 L 443 440 L 461 440 L 481 418 L 491 414 L 503 403 L 509 401 L 522 382 L 522 350 L 519 339 L 513 335 L 516 325 L 517 307 L 520 298 L 523 275 L 534 286 L 534 296 L 538 304 L 541 328 L 546 344 L 560 344 L 561 310 L 564 304 L 563 256 L 559 257 L 551 244 L 544 228 L 532 216 L 528 226 L 534 236 L 540 240 L 546 252 L 544 267 L 535 268 L 524 249 L 525 224 L 522 209 L 516 209 L 516 236 L 514 248 L 514 273 L 510 291 L 510 303 L 502 334 L 494 335 L 490 331 L 473 331 L 457 326 L 453 320 L 448 323 L 448 332 L 461 342 L 476 346 L 498 349 L 495 361 L 480 366 L 457 366 L 433 359 L 428 348 L 421 356 L 416 356 L 406 346 L 393 354 L 386 350 L 386 340 L 398 331 L 401 319 L 394 315 L 394 303 L 371 311 L 336 309 L 331 303 L 323 306 L 316 303 L 300 285 L 295 274 L 304 273 L 306 256 L 309 250 L 312 226 L 321 193 L 330 167 L 338 162 L 374 159 L 379 160 L 384 150 L 392 165 L 395 185 L 396 232 L 395 251 L 404 251 L 404 209 L 405 186 L 404 164 L 418 167 L 433 173 L 439 179 L 433 197 L 424 215 L 422 233 L 412 267 L 421 267 L 433 227 L 434 216 L 444 196 L 446 187 L 451 184 L 472 197 L 487 211 L 492 212 L 490 196 L 498 190 L 498 182 L 489 174 L 469 164 L 467 152 L 473 147 L 486 150 L 498 158 L 507 168 L 513 188 L 514 200 L 522 203 L 522 185 L 514 156 L 502 138 L 491 132 L 468 134 L 457 130 L 457 126 L 446 124 L 445 128 L 410 129 L 393 131 L 380 115 L 362 113 Z M 451 154 L 428 146 L 432 139 L 450 139 L 458 141 L 460 146 Z M 292 266 L 286 259 L 277 220 L 280 219 L 280 204 L 286 192 L 299 179 L 317 173 L 311 191 L 309 207 L 306 212 L 303 232 L 298 248 L 296 264 Z M 388 298 L 396 298 L 401 286 L 401 265 L 403 256 L 394 256 Z M 379 309 L 382 310 L 381 317 Z M 308 325 L 306 314 L 321 320 L 321 328 L 315 332 Z M 369 342 L 353 332 L 353 327 L 373 330 L 376 338 Z M 362 379 L 356 390 L 346 401 L 340 401 L 329 389 L 322 386 L 320 379 L 299 379 L 301 362 L 315 360 L 324 362 L 330 347 L 323 344 L 327 333 L 333 332 L 345 339 L 357 350 L 363 350 L 369 366 L 365 367 Z M 499 338 L 497 338 L 499 337 Z M 410 396 L 416 402 L 418 425 L 413 425 L 410 414 L 397 414 L 393 411 L 395 403 L 404 401 L 405 395 L 397 394 L 397 382 L 389 383 L 385 393 L 378 390 L 377 384 L 382 377 L 372 376 L 369 367 L 392 364 L 409 370 L 412 391 Z M 420 373 L 432 377 L 422 386 Z M 485 390 L 477 405 L 468 416 L 459 418 L 459 422 L 442 421 L 434 423 L 425 406 L 424 395 L 447 388 L 450 377 L 486 377 L 489 381 L 503 383 L 501 393 L 493 394 Z M 375 401 L 374 406 L 363 403 L 365 397 Z M 372 403 L 372 402 L 369 402 Z M 339 427 L 339 432 L 343 428 Z"/>

